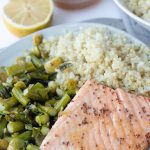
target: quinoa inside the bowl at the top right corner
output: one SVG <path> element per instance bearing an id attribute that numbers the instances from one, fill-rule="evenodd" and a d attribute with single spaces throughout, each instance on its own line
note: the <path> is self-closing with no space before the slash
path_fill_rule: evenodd
<path id="1" fill-rule="evenodd" d="M 123 0 L 125 5 L 137 16 L 150 22 L 150 1 L 149 0 Z"/>

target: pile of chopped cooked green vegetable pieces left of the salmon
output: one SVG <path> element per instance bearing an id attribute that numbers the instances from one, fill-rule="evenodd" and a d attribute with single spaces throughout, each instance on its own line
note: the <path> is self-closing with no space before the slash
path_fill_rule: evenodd
<path id="1" fill-rule="evenodd" d="M 0 67 L 0 150 L 38 150 L 75 95 L 75 86 L 64 90 L 55 81 L 57 68 L 66 67 L 63 60 L 49 60 L 48 52 L 40 49 L 41 35 L 33 42 L 27 55 Z"/>

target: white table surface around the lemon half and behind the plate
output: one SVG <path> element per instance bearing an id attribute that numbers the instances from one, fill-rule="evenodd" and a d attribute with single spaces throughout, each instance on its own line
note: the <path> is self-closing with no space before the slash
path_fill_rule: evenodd
<path id="1" fill-rule="evenodd" d="M 0 0 L 0 48 L 6 47 L 19 40 L 19 38 L 7 30 L 2 21 L 2 8 L 7 1 L 8 0 Z M 91 7 L 74 11 L 67 11 L 55 7 L 53 25 L 79 22 L 100 17 L 121 18 L 121 15 L 112 0 L 101 0 Z"/>

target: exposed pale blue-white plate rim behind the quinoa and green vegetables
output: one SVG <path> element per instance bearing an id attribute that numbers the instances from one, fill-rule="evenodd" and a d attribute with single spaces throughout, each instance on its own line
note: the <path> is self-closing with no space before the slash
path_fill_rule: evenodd
<path id="1" fill-rule="evenodd" d="M 123 32 L 121 30 L 118 30 L 118 29 L 110 27 L 110 26 L 106 26 L 106 25 L 102 25 L 102 24 L 93 24 L 93 23 L 64 24 L 64 25 L 59 25 L 59 26 L 47 28 L 47 29 L 41 30 L 37 33 L 43 34 L 44 38 L 48 39 L 51 36 L 62 35 L 66 31 L 78 32 L 79 30 L 82 30 L 82 29 L 87 28 L 87 27 L 92 27 L 92 26 L 94 26 L 94 27 L 107 27 L 112 32 L 122 32 L 132 41 L 139 43 L 139 44 L 143 44 L 139 40 L 135 39 L 131 35 Z M 32 35 L 29 35 L 29 36 L 21 39 L 20 41 L 10 45 L 9 47 L 3 49 L 0 52 L 0 65 L 4 65 L 4 66 L 5 65 L 11 65 L 15 61 L 15 58 L 17 56 L 23 55 L 23 53 L 26 50 L 28 50 L 32 47 L 33 47 Z"/>

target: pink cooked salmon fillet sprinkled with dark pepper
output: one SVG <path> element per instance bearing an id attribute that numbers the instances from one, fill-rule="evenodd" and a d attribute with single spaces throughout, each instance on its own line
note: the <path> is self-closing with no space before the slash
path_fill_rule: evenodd
<path id="1" fill-rule="evenodd" d="M 58 118 L 41 150 L 146 150 L 150 99 L 87 81 Z"/>

